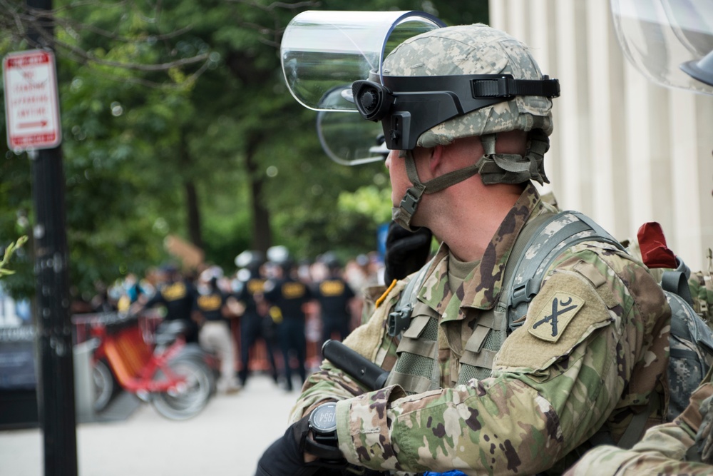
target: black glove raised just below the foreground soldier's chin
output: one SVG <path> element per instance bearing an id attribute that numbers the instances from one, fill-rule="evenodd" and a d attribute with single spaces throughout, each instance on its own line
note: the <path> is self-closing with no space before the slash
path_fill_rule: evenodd
<path id="1" fill-rule="evenodd" d="M 384 282 L 389 285 L 394 279 L 404 279 L 416 273 L 431 253 L 431 231 L 419 228 L 411 232 L 395 221 L 389 224 L 386 234 L 386 255 L 384 256 Z"/>

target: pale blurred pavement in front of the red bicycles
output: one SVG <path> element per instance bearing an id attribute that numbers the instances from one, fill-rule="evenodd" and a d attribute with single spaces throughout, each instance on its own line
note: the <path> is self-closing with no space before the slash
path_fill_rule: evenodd
<path id="1" fill-rule="evenodd" d="M 282 436 L 292 393 L 267 375 L 252 375 L 235 395 L 215 395 L 190 420 L 160 416 L 148 403 L 125 420 L 77 425 L 80 476 L 253 476 L 267 446 Z M 0 431 L 0 476 L 41 476 L 38 428 Z"/>

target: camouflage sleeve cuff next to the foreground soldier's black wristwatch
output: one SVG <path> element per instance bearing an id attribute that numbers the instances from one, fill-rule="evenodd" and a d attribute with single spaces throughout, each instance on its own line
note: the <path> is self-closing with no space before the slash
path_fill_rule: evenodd
<path id="1" fill-rule="evenodd" d="M 348 462 L 376 470 L 396 469 L 386 414 L 389 402 L 403 396 L 404 390 L 392 385 L 337 402 L 339 450 Z"/>

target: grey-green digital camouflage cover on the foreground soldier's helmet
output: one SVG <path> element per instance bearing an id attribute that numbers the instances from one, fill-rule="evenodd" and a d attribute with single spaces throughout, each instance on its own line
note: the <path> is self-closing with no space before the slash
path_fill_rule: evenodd
<path id="1" fill-rule="evenodd" d="M 538 64 L 522 42 L 485 24 L 449 26 L 404 41 L 384 59 L 388 76 L 511 74 L 542 79 Z M 456 138 L 505 131 L 553 130 L 552 101 L 544 96 L 515 96 L 508 101 L 456 116 L 419 137 L 421 147 L 447 145 Z"/>

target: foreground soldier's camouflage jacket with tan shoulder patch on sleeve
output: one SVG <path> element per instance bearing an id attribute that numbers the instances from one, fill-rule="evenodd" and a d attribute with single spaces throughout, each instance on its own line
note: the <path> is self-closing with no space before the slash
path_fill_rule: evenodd
<path id="1" fill-rule="evenodd" d="M 456 293 L 447 284 L 448 248 L 438 250 L 419 300 L 438 315 L 440 389 L 407 396 L 391 385 L 366 392 L 325 362 L 305 383 L 292 420 L 337 400 L 344 457 L 399 475 L 547 470 L 605 422 L 616 440 L 655 391 L 664 397 L 651 425 L 661 422 L 670 308 L 646 268 L 605 243 L 580 243 L 555 259 L 525 323 L 497 353 L 491 377 L 453 385 L 474 324 L 498 301 L 515 238 L 545 211 L 534 186 L 525 188 Z M 398 345 L 385 331 L 386 318 L 406 280 L 392 285 L 371 319 L 344 341 L 386 370 Z M 554 299 L 569 298 L 575 308 L 559 316 L 556 338 L 548 338 L 542 330 L 552 323 L 535 324 L 548 321 Z"/>

